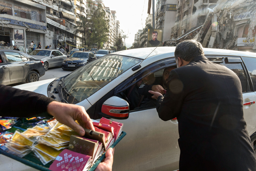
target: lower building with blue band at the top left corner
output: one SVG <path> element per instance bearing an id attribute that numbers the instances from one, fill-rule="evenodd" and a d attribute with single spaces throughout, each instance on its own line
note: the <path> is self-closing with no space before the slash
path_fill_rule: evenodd
<path id="1" fill-rule="evenodd" d="M 22 51 L 35 44 L 45 44 L 47 36 L 46 6 L 29 0 L 0 0 L 1 10 L 6 14 L 0 14 L 0 39 L 16 44 Z"/>

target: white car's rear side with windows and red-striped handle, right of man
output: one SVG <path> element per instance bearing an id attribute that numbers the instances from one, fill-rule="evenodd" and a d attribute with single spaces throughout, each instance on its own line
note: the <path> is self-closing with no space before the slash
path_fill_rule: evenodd
<path id="1" fill-rule="evenodd" d="M 243 95 L 243 103 L 244 103 L 244 118 L 247 124 L 247 131 L 249 135 L 256 131 L 256 94 L 254 91 L 254 86 L 256 86 L 256 81 L 254 80 L 256 77 L 255 74 L 255 66 L 253 62 L 256 62 L 255 58 L 246 58 L 243 57 L 244 61 L 247 63 L 247 67 L 242 62 L 240 57 L 234 56 L 206 56 L 209 60 L 214 63 L 219 63 L 227 68 L 234 71 L 236 75 L 238 75 L 241 85 L 242 85 L 242 95 Z M 246 68 L 249 72 L 247 72 Z M 250 77 L 250 76 L 251 77 Z M 252 84 L 254 83 L 254 85 Z"/>

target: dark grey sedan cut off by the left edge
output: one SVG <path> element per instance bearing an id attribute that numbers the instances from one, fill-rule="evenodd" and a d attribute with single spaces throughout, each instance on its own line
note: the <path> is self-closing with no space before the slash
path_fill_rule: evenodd
<path id="1" fill-rule="evenodd" d="M 34 82 L 44 74 L 42 60 L 17 50 L 0 49 L 0 84 Z"/>

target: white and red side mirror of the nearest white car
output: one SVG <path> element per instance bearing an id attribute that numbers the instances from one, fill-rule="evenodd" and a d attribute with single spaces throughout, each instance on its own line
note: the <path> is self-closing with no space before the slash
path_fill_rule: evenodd
<path id="1" fill-rule="evenodd" d="M 129 117 L 129 104 L 120 97 L 108 98 L 101 107 L 102 115 L 113 119 L 127 119 Z"/>

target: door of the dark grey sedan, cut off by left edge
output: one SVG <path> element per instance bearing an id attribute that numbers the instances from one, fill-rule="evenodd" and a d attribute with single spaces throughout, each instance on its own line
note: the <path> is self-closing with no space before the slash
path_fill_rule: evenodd
<path id="1" fill-rule="evenodd" d="M 0 52 L 0 84 L 10 84 L 9 67 L 6 63 L 4 55 Z"/>

